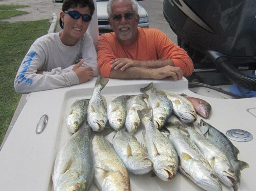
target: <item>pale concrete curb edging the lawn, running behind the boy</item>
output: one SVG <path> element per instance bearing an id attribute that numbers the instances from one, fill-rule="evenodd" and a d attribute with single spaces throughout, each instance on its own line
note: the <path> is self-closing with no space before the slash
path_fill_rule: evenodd
<path id="1" fill-rule="evenodd" d="M 52 14 L 52 21 L 51 21 L 51 25 L 50 25 L 50 28 L 49 28 L 49 30 L 48 30 L 48 33 L 55 32 L 55 29 L 56 29 L 56 26 L 57 26 L 58 23 L 59 23 L 58 17 L 56 16 L 55 13 L 53 13 L 53 14 Z M 7 137 L 8 137 L 8 135 L 10 134 L 10 132 L 11 132 L 11 130 L 12 130 L 12 128 L 13 128 L 13 126 L 14 126 L 14 124 L 15 124 L 15 122 L 16 122 L 18 116 L 19 116 L 19 114 L 20 114 L 20 112 L 22 111 L 22 108 L 24 107 L 24 105 L 25 105 L 25 103 L 26 103 L 26 100 L 27 100 L 26 98 L 27 98 L 27 96 L 28 96 L 28 94 L 22 94 L 22 96 L 21 96 L 21 98 L 20 98 L 20 100 L 19 100 L 19 103 L 18 103 L 18 105 L 17 105 L 17 108 L 16 108 L 16 110 L 15 110 L 15 112 L 14 112 L 14 114 L 13 114 L 12 121 L 10 122 L 10 125 L 9 125 L 9 127 L 8 127 L 8 129 L 7 129 L 7 131 L 6 131 L 6 134 L 5 134 L 5 136 L 4 136 L 3 142 L 2 142 L 2 144 L 1 144 L 0 151 L 1 151 L 1 149 L 2 149 L 2 147 L 3 147 L 3 145 L 4 145 L 4 143 L 5 143 L 5 141 L 6 141 Z"/>

